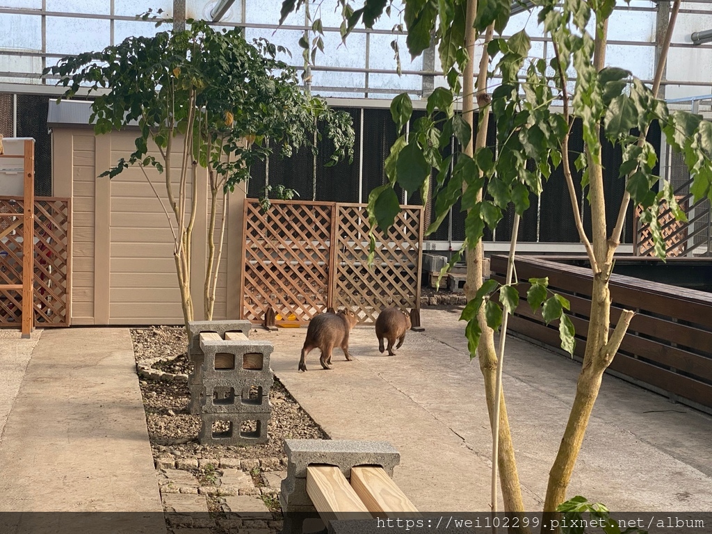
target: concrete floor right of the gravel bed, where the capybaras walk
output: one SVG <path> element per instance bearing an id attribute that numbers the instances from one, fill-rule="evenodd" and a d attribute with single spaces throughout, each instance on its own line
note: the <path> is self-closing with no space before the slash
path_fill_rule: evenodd
<path id="1" fill-rule="evenodd" d="M 351 335 L 322 370 L 318 351 L 297 371 L 304 329 L 273 340 L 272 367 L 333 439 L 384 439 L 402 459 L 395 479 L 423 511 L 487 511 L 491 434 L 478 362 L 470 362 L 459 311 L 422 310 L 382 356 L 372 328 Z M 525 506 L 539 510 L 565 427 L 580 364 L 528 342 L 507 342 L 504 388 Z M 568 495 L 617 511 L 712 509 L 712 418 L 605 377 Z"/>

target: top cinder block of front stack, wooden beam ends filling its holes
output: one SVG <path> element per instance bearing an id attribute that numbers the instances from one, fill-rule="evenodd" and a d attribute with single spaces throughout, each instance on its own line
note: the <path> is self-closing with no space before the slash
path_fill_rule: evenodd
<path id="1" fill-rule="evenodd" d="M 201 379 L 204 383 L 207 379 L 221 377 L 252 379 L 271 375 L 269 364 L 274 345 L 269 341 L 209 340 L 201 342 L 200 348 L 204 355 L 201 370 Z M 255 362 L 259 368 L 251 367 Z"/>

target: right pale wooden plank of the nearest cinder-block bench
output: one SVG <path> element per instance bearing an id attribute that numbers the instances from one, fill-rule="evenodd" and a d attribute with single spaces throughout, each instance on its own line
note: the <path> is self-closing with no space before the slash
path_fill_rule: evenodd
<path id="1" fill-rule="evenodd" d="M 382 467 L 352 467 L 351 487 L 371 513 L 387 518 L 420 517 L 415 505 Z"/>

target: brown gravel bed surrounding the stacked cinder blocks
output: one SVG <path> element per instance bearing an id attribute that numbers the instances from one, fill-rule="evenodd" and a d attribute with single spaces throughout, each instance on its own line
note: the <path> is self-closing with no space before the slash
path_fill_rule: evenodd
<path id="1" fill-rule="evenodd" d="M 187 336 L 182 327 L 159 326 L 131 330 L 137 363 L 161 357 L 152 367 L 175 375 L 187 374 Z M 197 441 L 200 417 L 189 414 L 190 392 L 187 382 L 140 380 L 146 410 L 148 434 L 155 459 L 170 454 L 182 458 L 281 459 L 284 439 L 325 439 L 323 430 L 275 379 L 270 390 L 272 417 L 268 425 L 269 441 L 253 446 L 208 446 Z"/>

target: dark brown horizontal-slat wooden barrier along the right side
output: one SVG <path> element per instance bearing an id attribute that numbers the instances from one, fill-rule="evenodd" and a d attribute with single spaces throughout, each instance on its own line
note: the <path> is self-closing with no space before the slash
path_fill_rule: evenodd
<path id="1" fill-rule="evenodd" d="M 493 256 L 492 277 L 504 281 L 507 258 Z M 509 328 L 559 347 L 558 321 L 544 325 L 526 303 L 529 278 L 549 278 L 549 287 L 570 300 L 576 329 L 575 355 L 586 348 L 591 305 L 590 269 L 532 256 L 515 261 L 520 305 Z M 712 412 L 712 294 L 612 275 L 611 327 L 623 309 L 634 310 L 629 331 L 609 369 L 672 400 Z"/>

